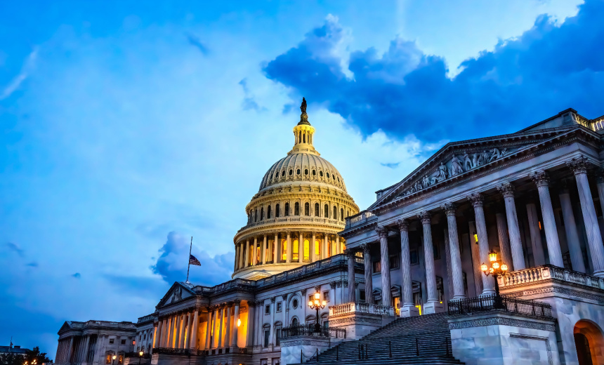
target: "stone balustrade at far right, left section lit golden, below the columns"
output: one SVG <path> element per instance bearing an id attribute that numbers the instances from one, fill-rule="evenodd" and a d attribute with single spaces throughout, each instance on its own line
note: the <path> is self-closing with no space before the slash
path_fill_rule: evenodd
<path id="1" fill-rule="evenodd" d="M 542 265 L 531 267 L 530 269 L 513 271 L 506 274 L 505 277 L 498 277 L 497 279 L 500 288 L 556 279 L 573 284 L 589 286 L 591 288 L 604 289 L 604 279 L 601 277 L 594 277 L 592 275 L 583 274 L 582 272 L 576 272 L 553 265 Z"/>

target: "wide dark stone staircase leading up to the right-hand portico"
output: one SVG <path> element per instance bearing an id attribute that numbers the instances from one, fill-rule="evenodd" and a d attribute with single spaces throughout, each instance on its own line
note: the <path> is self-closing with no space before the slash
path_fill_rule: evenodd
<path id="1" fill-rule="evenodd" d="M 464 364 L 451 354 L 444 313 L 399 318 L 355 341 L 340 343 L 306 364 Z"/>

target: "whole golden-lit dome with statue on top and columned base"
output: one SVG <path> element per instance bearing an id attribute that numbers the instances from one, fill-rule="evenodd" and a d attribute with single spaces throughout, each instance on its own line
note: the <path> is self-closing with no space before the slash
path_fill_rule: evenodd
<path id="1" fill-rule="evenodd" d="M 294 147 L 265 173 L 235 238 L 233 277 L 261 279 L 343 252 L 338 232 L 359 212 L 339 171 L 313 146 L 306 100 Z"/>

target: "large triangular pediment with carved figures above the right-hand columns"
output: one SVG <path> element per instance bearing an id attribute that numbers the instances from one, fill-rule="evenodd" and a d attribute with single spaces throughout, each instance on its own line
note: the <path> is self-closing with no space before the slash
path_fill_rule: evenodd
<path id="1" fill-rule="evenodd" d="M 447 143 L 400 183 L 383 192 L 368 210 L 376 211 L 390 202 L 441 187 L 454 179 L 470 177 L 475 171 L 494 167 L 523 152 L 539 148 L 544 142 L 579 130 L 593 133 L 572 126 Z"/>

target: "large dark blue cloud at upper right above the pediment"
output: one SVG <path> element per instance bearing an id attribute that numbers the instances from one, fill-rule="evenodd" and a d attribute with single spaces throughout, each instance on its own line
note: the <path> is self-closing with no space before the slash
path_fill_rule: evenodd
<path id="1" fill-rule="evenodd" d="M 373 48 L 350 53 L 347 77 L 336 52 L 345 34 L 329 18 L 263 70 L 364 135 L 381 128 L 399 138 L 463 140 L 518 131 L 567 107 L 589 118 L 604 114 L 602 19 L 598 0 L 560 27 L 543 15 L 518 39 L 464 61 L 449 79 L 445 59 L 400 39 L 383 55 Z"/>

